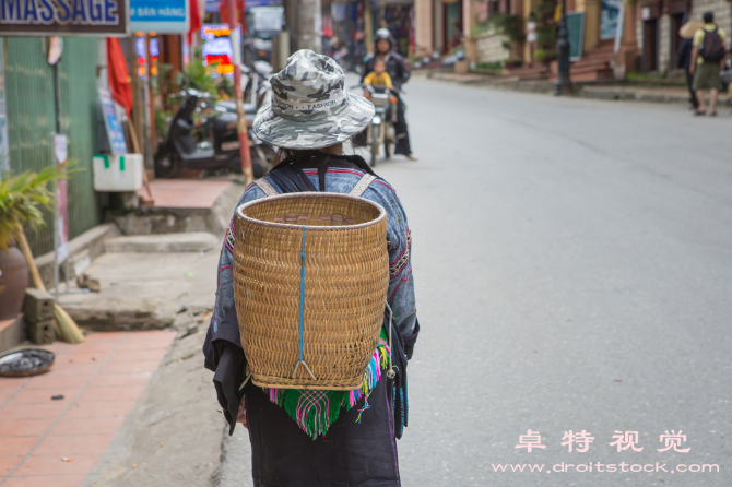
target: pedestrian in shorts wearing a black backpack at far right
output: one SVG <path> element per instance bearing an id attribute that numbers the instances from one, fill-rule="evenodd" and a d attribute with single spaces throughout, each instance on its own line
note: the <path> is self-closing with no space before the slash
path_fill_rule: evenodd
<path id="1" fill-rule="evenodd" d="M 715 24 L 715 12 L 704 13 L 704 28 L 694 34 L 694 49 L 689 70 L 694 74 L 694 91 L 699 107 L 694 115 L 705 115 L 704 90 L 709 88 L 709 116 L 717 115 L 717 96 L 722 85 L 720 63 L 727 55 L 727 34 Z"/>

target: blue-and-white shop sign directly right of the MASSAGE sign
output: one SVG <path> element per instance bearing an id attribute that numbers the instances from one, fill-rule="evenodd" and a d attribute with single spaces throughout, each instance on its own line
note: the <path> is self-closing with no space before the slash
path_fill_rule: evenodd
<path id="1" fill-rule="evenodd" d="M 185 34 L 190 29 L 189 0 L 130 0 L 130 29 Z"/>

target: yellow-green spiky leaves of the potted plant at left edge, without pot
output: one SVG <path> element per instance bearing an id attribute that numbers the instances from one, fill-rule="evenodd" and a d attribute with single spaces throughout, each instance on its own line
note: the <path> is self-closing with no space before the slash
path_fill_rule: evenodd
<path id="1" fill-rule="evenodd" d="M 70 159 L 64 167 L 51 165 L 38 173 L 26 170 L 17 175 L 5 174 L 0 180 L 0 249 L 8 250 L 17 235 L 17 226 L 33 230 L 43 227 L 42 207 L 54 211 L 56 194 L 48 185 L 57 179 L 67 179 L 76 161 Z"/>

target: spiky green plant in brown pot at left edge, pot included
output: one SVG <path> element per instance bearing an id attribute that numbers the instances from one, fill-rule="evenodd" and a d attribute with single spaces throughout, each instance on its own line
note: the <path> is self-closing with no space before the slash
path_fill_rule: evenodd
<path id="1" fill-rule="evenodd" d="M 52 211 L 54 193 L 48 183 L 64 178 L 52 165 L 39 173 L 26 170 L 0 178 L 0 320 L 15 318 L 28 287 L 28 266 L 15 246 L 21 225 L 38 229 L 45 225 L 40 206 Z"/>

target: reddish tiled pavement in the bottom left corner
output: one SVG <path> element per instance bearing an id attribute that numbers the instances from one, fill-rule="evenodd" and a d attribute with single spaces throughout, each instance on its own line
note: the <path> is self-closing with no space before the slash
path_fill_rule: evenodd
<path id="1" fill-rule="evenodd" d="M 52 369 L 0 378 L 0 486 L 82 484 L 142 395 L 175 332 L 95 333 L 56 343 Z M 61 401 L 51 396 L 63 395 Z"/>

